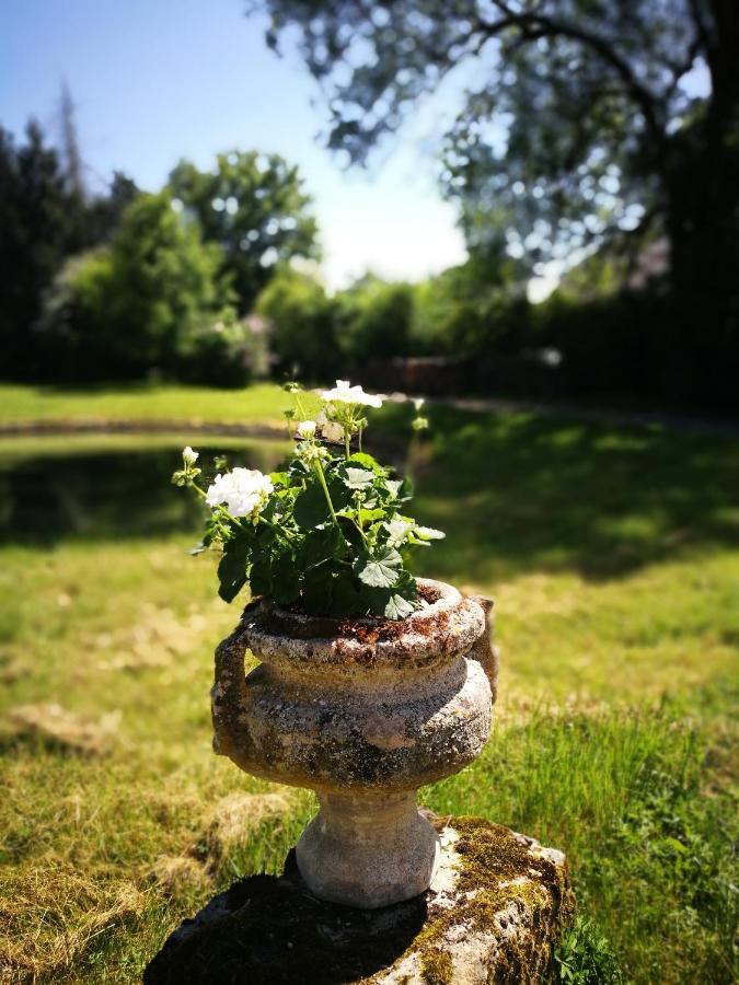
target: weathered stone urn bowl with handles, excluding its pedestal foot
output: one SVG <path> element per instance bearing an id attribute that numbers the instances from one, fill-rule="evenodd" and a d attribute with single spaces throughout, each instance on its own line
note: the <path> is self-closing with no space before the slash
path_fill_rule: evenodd
<path id="1" fill-rule="evenodd" d="M 429 604 L 401 622 L 247 606 L 216 652 L 216 752 L 328 793 L 414 790 L 471 763 L 490 731 L 486 612 L 419 586 Z M 247 648 L 261 665 L 244 679 Z"/>

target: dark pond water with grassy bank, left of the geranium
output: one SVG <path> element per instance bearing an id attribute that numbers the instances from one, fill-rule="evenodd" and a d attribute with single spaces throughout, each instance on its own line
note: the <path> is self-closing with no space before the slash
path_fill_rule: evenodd
<path id="1" fill-rule="evenodd" d="M 204 477 L 213 457 L 229 465 L 275 470 L 288 450 L 279 441 L 194 436 L 72 436 L 0 441 L 0 543 L 53 545 L 69 538 L 123 540 L 177 531 L 196 535 L 201 505 L 171 475 L 182 448 L 200 452 Z"/>

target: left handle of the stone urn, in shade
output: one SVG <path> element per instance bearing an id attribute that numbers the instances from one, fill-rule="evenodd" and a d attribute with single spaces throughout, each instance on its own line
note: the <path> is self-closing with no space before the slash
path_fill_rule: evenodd
<path id="1" fill-rule="evenodd" d="M 250 605 L 244 611 L 246 616 Z M 216 648 L 216 680 L 210 692 L 213 723 L 213 752 L 228 756 L 251 772 L 254 743 L 249 730 L 250 688 L 246 684 L 244 621 Z"/>

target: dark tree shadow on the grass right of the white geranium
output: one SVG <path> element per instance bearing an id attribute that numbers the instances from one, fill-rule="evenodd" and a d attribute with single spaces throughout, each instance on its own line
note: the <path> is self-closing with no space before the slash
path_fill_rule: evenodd
<path id="1" fill-rule="evenodd" d="M 438 577 L 620 578 L 684 552 L 739 547 L 739 443 L 661 426 L 436 410 L 414 512 L 446 530 Z"/>

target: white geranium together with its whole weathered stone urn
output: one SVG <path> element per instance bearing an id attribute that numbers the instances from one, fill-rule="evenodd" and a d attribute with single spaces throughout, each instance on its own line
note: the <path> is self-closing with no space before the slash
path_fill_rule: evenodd
<path id="1" fill-rule="evenodd" d="M 209 509 L 219 593 L 252 601 L 216 652 L 216 752 L 317 792 L 297 861 L 319 897 L 377 907 L 424 892 L 438 859 L 416 789 L 458 772 L 489 735 L 496 658 L 489 602 L 414 578 L 442 537 L 407 513 L 412 487 L 362 450 L 381 398 L 337 381 L 315 419 L 297 409 L 285 470 L 218 474 L 198 455 L 173 476 Z M 414 428 L 426 421 L 418 417 Z M 261 661 L 244 674 L 246 650 Z"/>

